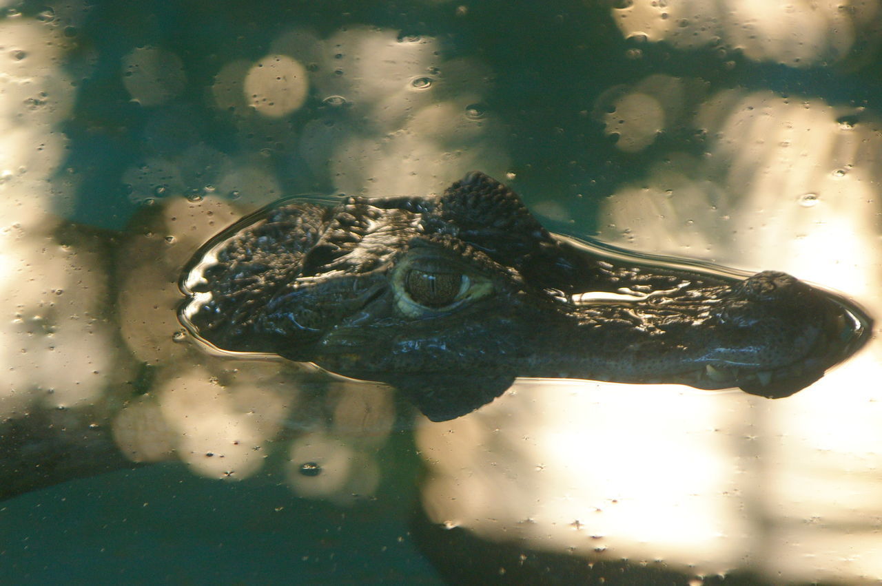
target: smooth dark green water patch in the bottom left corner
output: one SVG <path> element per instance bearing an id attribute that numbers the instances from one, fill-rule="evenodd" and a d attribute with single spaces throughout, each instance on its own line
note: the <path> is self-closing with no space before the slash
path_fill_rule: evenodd
<path id="1" fill-rule="evenodd" d="M 410 532 L 413 445 L 370 501 L 297 499 L 280 478 L 228 484 L 182 465 L 76 480 L 0 506 L 0 582 L 443 583 Z"/>

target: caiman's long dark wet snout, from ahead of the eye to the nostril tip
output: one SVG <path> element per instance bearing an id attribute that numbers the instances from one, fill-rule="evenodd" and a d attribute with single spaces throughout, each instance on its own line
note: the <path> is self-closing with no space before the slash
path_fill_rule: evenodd
<path id="1" fill-rule="evenodd" d="M 614 296 L 565 303 L 579 335 L 570 338 L 567 359 L 557 362 L 561 372 L 787 397 L 856 352 L 871 333 L 871 319 L 856 305 L 784 273 Z"/>

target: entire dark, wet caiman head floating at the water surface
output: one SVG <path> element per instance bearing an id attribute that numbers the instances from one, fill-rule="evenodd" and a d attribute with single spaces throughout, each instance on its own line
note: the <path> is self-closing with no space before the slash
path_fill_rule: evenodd
<path id="1" fill-rule="evenodd" d="M 258 211 L 184 269 L 180 317 L 224 351 L 392 384 L 433 420 L 516 376 L 787 397 L 869 336 L 859 308 L 787 274 L 667 261 L 549 234 L 470 173 L 440 197 Z"/>

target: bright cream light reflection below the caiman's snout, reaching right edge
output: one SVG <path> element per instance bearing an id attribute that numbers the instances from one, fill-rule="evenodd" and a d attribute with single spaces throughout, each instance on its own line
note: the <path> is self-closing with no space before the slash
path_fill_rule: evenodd
<path id="1" fill-rule="evenodd" d="M 587 560 L 869 579 L 882 571 L 882 413 L 855 384 L 878 376 L 868 362 L 786 403 L 520 382 L 479 412 L 420 427 L 423 505 L 434 523 Z"/>

